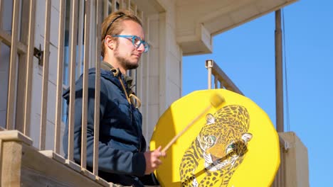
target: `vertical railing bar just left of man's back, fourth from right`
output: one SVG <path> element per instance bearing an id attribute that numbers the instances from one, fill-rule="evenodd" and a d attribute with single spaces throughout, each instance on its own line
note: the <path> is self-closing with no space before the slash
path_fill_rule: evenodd
<path id="1" fill-rule="evenodd" d="M 59 30 L 58 30 L 58 70 L 57 70 L 57 94 L 56 94 L 56 126 L 54 134 L 54 149 L 60 153 L 60 127 L 63 106 L 63 45 L 65 32 L 65 0 L 60 0 Z"/>

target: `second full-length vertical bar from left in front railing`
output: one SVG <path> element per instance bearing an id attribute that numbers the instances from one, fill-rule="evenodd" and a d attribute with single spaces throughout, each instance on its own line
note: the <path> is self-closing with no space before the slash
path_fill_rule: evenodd
<path id="1" fill-rule="evenodd" d="M 35 41 L 35 8 L 36 0 L 30 1 L 29 25 L 28 25 L 28 52 L 26 64 L 26 93 L 24 96 L 24 112 L 23 112 L 23 134 L 30 135 L 30 114 L 31 114 L 31 81 L 33 74 L 33 47 Z"/>

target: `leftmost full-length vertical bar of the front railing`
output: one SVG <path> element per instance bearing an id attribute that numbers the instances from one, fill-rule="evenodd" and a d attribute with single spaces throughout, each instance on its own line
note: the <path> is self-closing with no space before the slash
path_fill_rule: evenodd
<path id="1" fill-rule="evenodd" d="M 14 1 L 13 7 L 13 23 L 11 25 L 11 59 L 9 62 L 9 84 L 7 96 L 7 116 L 6 128 L 7 130 L 14 129 L 14 98 L 16 90 L 16 59 L 17 59 L 17 43 L 18 43 L 18 15 L 19 15 L 19 0 Z"/>

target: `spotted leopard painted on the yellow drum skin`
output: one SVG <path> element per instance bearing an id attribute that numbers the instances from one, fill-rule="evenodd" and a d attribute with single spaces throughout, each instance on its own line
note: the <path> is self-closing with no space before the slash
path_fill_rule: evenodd
<path id="1" fill-rule="evenodd" d="M 243 106 L 224 106 L 214 115 L 206 115 L 206 125 L 186 149 L 180 164 L 181 186 L 228 186 L 237 166 L 248 150 L 250 124 Z M 204 171 L 196 171 L 204 159 Z M 196 176 L 203 174 L 197 181 Z"/>

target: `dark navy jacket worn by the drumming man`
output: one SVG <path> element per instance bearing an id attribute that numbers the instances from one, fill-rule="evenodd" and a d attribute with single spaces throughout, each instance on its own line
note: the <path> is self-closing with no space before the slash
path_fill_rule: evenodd
<path id="1" fill-rule="evenodd" d="M 88 80 L 87 166 L 91 168 L 93 166 L 95 69 L 89 69 Z M 138 108 L 127 100 L 122 84 L 129 92 L 130 89 L 120 71 L 115 75 L 110 70 L 101 69 L 99 176 L 125 186 L 142 186 L 137 178 L 137 176 L 143 176 L 146 169 L 143 152 L 147 145 L 142 135 L 142 115 Z M 78 163 L 80 163 L 81 150 L 82 93 L 83 76 L 75 84 L 74 160 Z M 69 89 L 65 91 L 63 97 L 68 104 Z M 67 157 L 68 123 L 66 124 L 63 148 Z"/>

